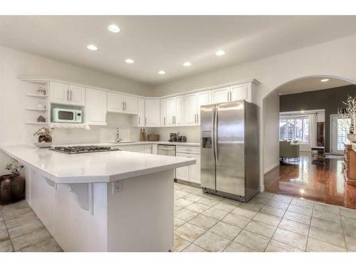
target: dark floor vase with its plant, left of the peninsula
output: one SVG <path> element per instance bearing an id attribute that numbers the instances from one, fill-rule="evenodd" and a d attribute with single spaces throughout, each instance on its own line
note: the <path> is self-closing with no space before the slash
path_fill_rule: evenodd
<path id="1" fill-rule="evenodd" d="M 25 179 L 20 172 L 23 166 L 14 159 L 5 165 L 11 174 L 0 176 L 0 204 L 9 204 L 25 197 Z"/>

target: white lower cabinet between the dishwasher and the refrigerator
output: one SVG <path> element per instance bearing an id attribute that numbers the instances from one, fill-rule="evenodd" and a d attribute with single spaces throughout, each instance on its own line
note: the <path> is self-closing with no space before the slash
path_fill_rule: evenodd
<path id="1" fill-rule="evenodd" d="M 196 159 L 197 163 L 190 166 L 180 167 L 176 169 L 176 178 L 200 184 L 200 147 L 179 147 L 177 146 L 177 157 L 188 157 Z"/>

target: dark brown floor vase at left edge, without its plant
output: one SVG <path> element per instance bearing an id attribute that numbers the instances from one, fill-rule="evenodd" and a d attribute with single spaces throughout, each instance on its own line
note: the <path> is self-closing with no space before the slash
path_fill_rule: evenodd
<path id="1" fill-rule="evenodd" d="M 11 204 L 25 197 L 25 179 L 19 174 L 0 176 L 0 204 Z"/>

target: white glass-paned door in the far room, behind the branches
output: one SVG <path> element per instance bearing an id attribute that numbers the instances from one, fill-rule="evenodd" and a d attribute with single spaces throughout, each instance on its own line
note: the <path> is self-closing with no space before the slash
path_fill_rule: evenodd
<path id="1" fill-rule="evenodd" d="M 351 119 L 342 119 L 340 115 L 330 115 L 331 120 L 331 153 L 344 154 L 344 142 L 350 130 Z"/>

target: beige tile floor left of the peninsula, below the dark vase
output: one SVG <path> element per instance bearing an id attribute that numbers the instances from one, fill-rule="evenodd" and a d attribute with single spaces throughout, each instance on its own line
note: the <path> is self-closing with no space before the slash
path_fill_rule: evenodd
<path id="1" fill-rule="evenodd" d="M 0 251 L 62 251 L 26 201 L 0 206 Z"/>

